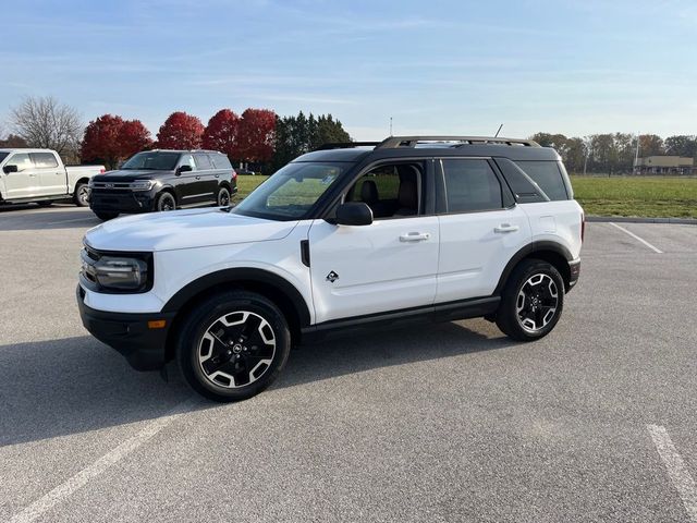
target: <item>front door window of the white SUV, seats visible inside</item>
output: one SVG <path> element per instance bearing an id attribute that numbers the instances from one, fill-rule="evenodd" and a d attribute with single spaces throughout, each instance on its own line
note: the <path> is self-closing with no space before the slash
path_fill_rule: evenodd
<path id="1" fill-rule="evenodd" d="M 346 193 L 346 202 L 364 202 L 375 219 L 416 216 L 420 210 L 420 163 L 376 167 L 362 175 Z"/>

